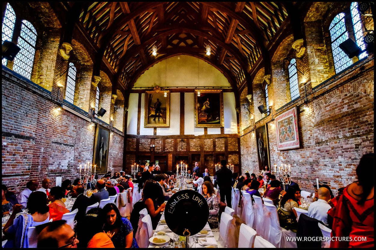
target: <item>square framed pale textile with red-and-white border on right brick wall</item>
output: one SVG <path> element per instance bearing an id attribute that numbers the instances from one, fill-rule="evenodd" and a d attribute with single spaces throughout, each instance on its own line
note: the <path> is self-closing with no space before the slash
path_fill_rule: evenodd
<path id="1" fill-rule="evenodd" d="M 300 147 L 296 107 L 276 117 L 277 149 Z"/>

